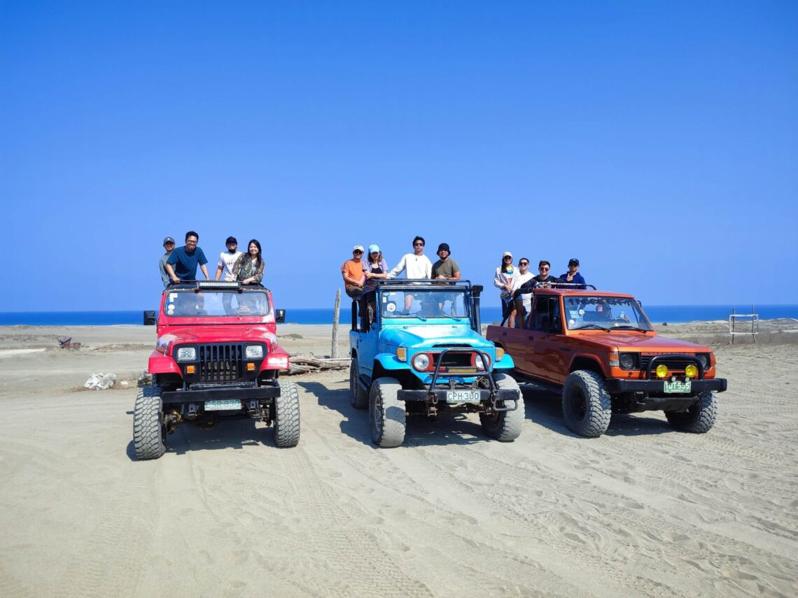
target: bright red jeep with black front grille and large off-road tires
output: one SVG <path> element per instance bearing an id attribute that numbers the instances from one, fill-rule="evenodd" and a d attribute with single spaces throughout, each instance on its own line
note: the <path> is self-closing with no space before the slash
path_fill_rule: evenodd
<path id="1" fill-rule="evenodd" d="M 144 324 L 155 324 L 154 312 Z M 191 281 L 164 290 L 156 348 L 149 358 L 152 384 L 141 389 L 133 412 L 136 458 L 159 458 L 178 423 L 252 418 L 275 424 L 278 447 L 299 442 L 296 385 L 278 380 L 288 354 L 277 342 L 271 291 L 239 282 Z"/>

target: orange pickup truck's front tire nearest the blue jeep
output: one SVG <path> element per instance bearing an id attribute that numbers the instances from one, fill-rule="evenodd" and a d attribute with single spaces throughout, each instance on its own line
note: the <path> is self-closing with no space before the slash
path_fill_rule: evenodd
<path id="1" fill-rule="evenodd" d="M 563 418 L 569 430 L 587 438 L 598 438 L 610 426 L 612 399 L 602 376 L 577 370 L 563 386 Z"/>

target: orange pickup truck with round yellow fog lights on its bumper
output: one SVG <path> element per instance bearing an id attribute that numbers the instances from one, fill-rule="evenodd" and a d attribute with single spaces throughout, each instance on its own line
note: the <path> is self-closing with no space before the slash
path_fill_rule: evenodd
<path id="1" fill-rule="evenodd" d="M 512 376 L 561 391 L 571 431 L 594 438 L 613 413 L 665 411 L 678 430 L 708 431 L 717 418 L 709 347 L 659 336 L 631 295 L 595 289 L 535 289 L 524 329 L 488 326 L 515 361 Z"/>

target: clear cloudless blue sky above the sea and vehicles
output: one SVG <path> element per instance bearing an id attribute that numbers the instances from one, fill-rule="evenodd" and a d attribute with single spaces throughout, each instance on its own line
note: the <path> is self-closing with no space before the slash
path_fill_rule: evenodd
<path id="1" fill-rule="evenodd" d="M 416 234 L 486 305 L 796 303 L 796 196 L 798 2 L 0 0 L 0 311 L 148 309 L 189 229 L 282 307 Z"/>

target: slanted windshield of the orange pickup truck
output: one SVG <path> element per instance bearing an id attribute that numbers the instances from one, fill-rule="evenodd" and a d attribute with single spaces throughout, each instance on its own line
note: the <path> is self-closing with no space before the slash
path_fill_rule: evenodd
<path id="1" fill-rule="evenodd" d="M 569 330 L 654 330 L 630 297 L 563 297 L 563 305 Z"/>

